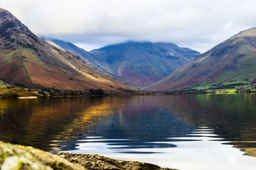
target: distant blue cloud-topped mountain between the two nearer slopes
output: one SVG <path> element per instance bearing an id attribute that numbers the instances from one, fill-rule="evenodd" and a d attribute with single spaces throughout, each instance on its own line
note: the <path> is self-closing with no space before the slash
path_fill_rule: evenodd
<path id="1" fill-rule="evenodd" d="M 172 43 L 127 42 L 86 52 L 72 43 L 49 38 L 54 44 L 81 56 L 86 63 L 132 87 L 146 87 L 193 59 L 199 52 Z"/>

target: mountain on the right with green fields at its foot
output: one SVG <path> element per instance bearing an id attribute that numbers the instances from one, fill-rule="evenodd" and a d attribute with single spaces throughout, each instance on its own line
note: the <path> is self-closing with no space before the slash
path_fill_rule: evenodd
<path id="1" fill-rule="evenodd" d="M 256 83 L 256 29 L 239 32 L 145 90 L 218 89 Z"/>

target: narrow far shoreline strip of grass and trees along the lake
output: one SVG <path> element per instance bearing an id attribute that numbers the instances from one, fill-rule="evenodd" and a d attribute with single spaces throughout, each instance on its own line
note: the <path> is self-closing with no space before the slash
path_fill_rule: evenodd
<path id="1" fill-rule="evenodd" d="M 95 90 L 97 91 L 97 90 Z M 234 94 L 234 93 L 255 93 L 256 89 L 184 89 L 172 92 L 137 92 L 137 93 L 120 93 L 120 92 L 95 92 L 76 91 L 76 90 L 57 90 L 57 89 L 24 89 L 22 87 L 0 87 L 0 99 L 19 97 L 82 97 L 82 96 L 152 96 L 152 95 L 175 95 L 175 94 Z"/>

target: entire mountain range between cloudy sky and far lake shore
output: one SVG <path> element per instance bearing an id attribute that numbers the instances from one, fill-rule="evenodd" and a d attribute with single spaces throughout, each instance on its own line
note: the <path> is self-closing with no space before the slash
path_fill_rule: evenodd
<path id="1" fill-rule="evenodd" d="M 87 52 L 39 38 L 0 9 L 0 86 L 138 93 L 255 89 L 256 29 L 200 54 L 173 43 L 127 41 Z"/>

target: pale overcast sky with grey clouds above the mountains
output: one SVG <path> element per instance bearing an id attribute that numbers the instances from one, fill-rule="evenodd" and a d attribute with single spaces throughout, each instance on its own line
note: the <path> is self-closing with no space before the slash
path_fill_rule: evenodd
<path id="1" fill-rule="evenodd" d="M 255 6 L 255 0 L 0 0 L 36 35 L 85 50 L 152 41 L 202 53 L 256 27 Z"/>

